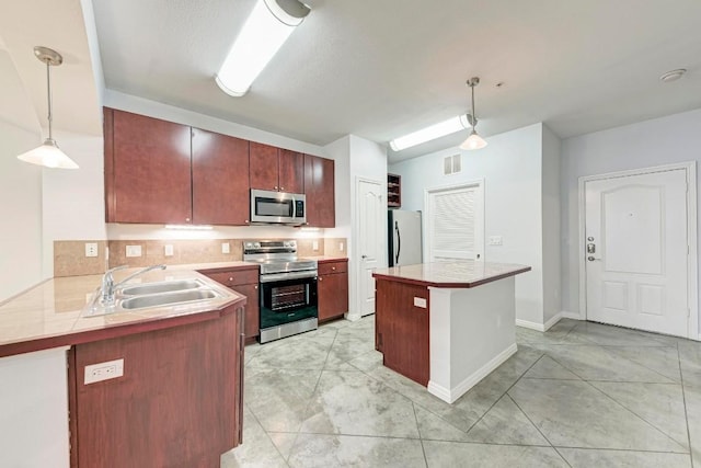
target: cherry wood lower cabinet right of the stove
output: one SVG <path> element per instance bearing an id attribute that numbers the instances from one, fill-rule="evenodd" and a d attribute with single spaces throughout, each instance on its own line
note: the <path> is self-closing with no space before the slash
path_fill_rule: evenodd
<path id="1" fill-rule="evenodd" d="M 348 311 L 348 259 L 320 261 L 318 271 L 319 321 L 343 317 Z"/>

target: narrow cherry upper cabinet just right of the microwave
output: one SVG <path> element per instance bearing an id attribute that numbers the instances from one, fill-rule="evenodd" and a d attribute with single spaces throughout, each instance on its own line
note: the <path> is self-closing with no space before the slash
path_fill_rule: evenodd
<path id="1" fill-rule="evenodd" d="M 304 155 L 307 224 L 318 228 L 336 226 L 334 161 Z"/>

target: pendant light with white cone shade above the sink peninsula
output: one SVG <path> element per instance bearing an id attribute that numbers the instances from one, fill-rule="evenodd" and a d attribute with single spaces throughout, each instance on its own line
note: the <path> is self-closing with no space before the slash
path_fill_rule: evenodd
<path id="1" fill-rule="evenodd" d="M 66 156 L 66 153 L 58 148 L 51 133 L 51 66 L 57 67 L 61 65 L 64 62 L 64 57 L 61 57 L 61 55 L 56 50 L 41 46 L 34 47 L 34 55 L 38 60 L 46 64 L 48 138 L 44 140 L 44 145 L 18 156 L 18 159 L 32 164 L 44 165 L 45 168 L 78 169 L 78 164 L 76 164 L 72 159 Z"/>

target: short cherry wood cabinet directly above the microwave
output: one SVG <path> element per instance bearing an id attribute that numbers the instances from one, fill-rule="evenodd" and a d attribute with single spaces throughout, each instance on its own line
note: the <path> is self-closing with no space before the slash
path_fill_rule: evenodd
<path id="1" fill-rule="evenodd" d="M 251 189 L 304 192 L 304 155 L 251 141 Z"/>

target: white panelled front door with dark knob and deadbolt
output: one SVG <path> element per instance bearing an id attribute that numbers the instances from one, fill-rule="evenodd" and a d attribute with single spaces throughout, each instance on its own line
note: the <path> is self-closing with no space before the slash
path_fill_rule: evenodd
<path id="1" fill-rule="evenodd" d="M 689 336 L 686 169 L 585 182 L 587 320 Z"/>

